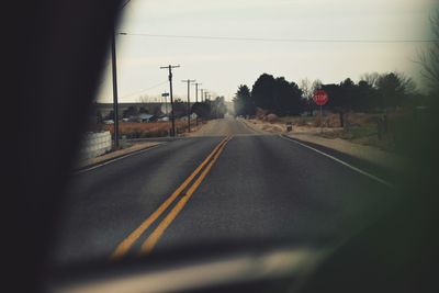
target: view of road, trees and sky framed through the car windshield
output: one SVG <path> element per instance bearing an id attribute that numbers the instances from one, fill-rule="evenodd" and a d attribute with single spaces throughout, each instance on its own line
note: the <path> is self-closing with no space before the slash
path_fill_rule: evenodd
<path id="1" fill-rule="evenodd" d="M 435 2 L 126 2 L 53 266 L 363 230 L 397 202 L 407 125 L 429 111 Z"/>

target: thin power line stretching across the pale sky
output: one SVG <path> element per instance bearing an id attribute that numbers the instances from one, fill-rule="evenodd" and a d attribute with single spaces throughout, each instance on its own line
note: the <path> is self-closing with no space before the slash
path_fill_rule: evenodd
<path id="1" fill-rule="evenodd" d="M 399 43 L 437 43 L 439 40 L 344 40 L 344 38 L 267 38 L 267 37 L 235 37 L 235 36 L 207 36 L 207 35 L 164 35 L 126 33 L 121 35 L 160 37 L 160 38 L 192 38 L 192 40 L 214 40 L 214 41 L 240 41 L 240 42 L 273 42 L 273 43 L 359 43 L 359 44 L 399 44 Z"/>

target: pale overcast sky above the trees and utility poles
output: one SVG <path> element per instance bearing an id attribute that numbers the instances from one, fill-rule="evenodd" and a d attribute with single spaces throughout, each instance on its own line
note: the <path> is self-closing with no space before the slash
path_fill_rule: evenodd
<path id="1" fill-rule="evenodd" d="M 428 43 L 362 41 L 431 40 L 429 16 L 438 3 L 131 0 L 116 30 L 127 34 L 116 35 L 120 102 L 136 102 L 140 95 L 155 101 L 169 91 L 168 72 L 160 70 L 168 65 L 181 66 L 173 70 L 175 98 L 181 99 L 187 99 L 187 83 L 181 80 L 196 79 L 200 88 L 230 101 L 239 84 L 251 89 L 263 72 L 296 83 L 304 78 L 338 83 L 348 77 L 358 81 L 364 72 L 401 71 L 421 88 L 416 59 Z M 235 37 L 240 40 L 230 40 Z M 191 92 L 194 100 L 194 87 Z M 98 101 L 112 101 L 110 56 Z"/>

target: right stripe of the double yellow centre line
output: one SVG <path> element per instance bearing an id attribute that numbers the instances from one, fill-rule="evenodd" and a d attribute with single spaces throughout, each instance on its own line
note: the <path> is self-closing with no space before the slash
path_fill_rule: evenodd
<path id="1" fill-rule="evenodd" d="M 147 255 L 154 249 L 154 247 L 156 246 L 157 241 L 160 239 L 165 230 L 169 227 L 169 225 L 173 222 L 173 219 L 176 219 L 178 214 L 181 212 L 181 210 L 183 210 L 184 205 L 191 199 L 192 194 L 200 187 L 201 182 L 204 180 L 209 171 L 212 169 L 217 158 L 219 157 L 221 153 L 223 153 L 226 144 L 230 139 L 227 139 L 226 143 L 221 146 L 219 150 L 216 153 L 213 160 L 209 164 L 209 166 L 204 169 L 204 171 L 200 174 L 200 177 L 195 180 L 195 182 L 190 187 L 184 196 L 177 203 L 177 205 L 169 212 L 169 214 L 164 218 L 164 221 L 160 222 L 160 224 L 153 232 L 153 234 L 149 235 L 149 237 L 145 240 L 145 243 L 142 245 L 140 248 L 140 255 Z"/>

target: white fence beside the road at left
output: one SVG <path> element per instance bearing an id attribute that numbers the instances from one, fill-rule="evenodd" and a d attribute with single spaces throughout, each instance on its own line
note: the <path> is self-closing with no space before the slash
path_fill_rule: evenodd
<path id="1" fill-rule="evenodd" d="M 90 159 L 111 150 L 111 133 L 88 133 L 85 135 L 81 148 L 81 159 Z"/>

